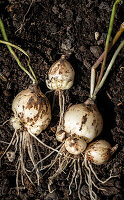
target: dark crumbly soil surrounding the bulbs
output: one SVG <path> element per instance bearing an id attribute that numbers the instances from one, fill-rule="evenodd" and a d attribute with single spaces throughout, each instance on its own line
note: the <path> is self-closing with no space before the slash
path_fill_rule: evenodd
<path id="1" fill-rule="evenodd" d="M 43 93 L 48 91 L 45 78 L 53 62 L 62 54 L 69 55 L 69 62 L 75 69 L 76 78 L 74 86 L 66 92 L 66 107 L 70 103 L 84 102 L 89 95 L 90 70 L 97 57 L 104 50 L 109 19 L 114 0 L 34 0 L 30 9 L 31 0 L 0 0 L 0 14 L 4 22 L 9 41 L 20 46 L 31 57 L 31 65 L 38 78 Z M 27 13 L 29 9 L 29 12 Z M 26 14 L 27 13 L 27 14 Z M 112 37 L 123 22 L 124 4 L 118 5 Z M 26 15 L 25 15 L 26 14 Z M 99 32 L 98 40 L 95 32 Z M 2 39 L 2 36 L 0 36 Z M 110 52 L 108 62 L 119 45 Z M 24 57 L 18 53 L 20 59 Z M 98 94 L 97 105 L 104 119 L 104 129 L 99 138 L 106 139 L 111 145 L 118 144 L 118 150 L 111 160 L 104 166 L 94 166 L 96 173 L 101 178 L 107 178 L 110 170 L 117 178 L 110 180 L 104 186 L 106 191 L 96 191 L 98 199 L 122 200 L 124 186 L 124 83 L 123 60 L 124 50 L 118 55 L 111 73 Z M 0 79 L 0 123 L 2 124 L 12 116 L 11 105 L 18 92 L 27 88 L 31 83 L 27 75 L 18 67 L 10 56 L 5 45 L 0 47 L 0 72 L 6 77 L 6 82 Z M 47 94 L 52 103 L 53 93 Z M 50 127 L 42 135 L 42 140 L 56 147 L 58 144 L 51 127 L 57 124 L 59 113 L 58 101 L 53 111 Z M 13 129 L 8 124 L 0 127 L 1 140 L 9 142 Z M 7 145 L 0 143 L 2 155 Z M 44 157 L 47 150 L 43 147 L 41 155 Z M 51 157 L 51 159 L 53 159 Z M 7 199 L 35 199 L 35 200 L 69 200 L 78 199 L 74 190 L 69 196 L 66 180 L 67 174 L 62 173 L 54 182 L 54 193 L 49 194 L 47 188 L 48 177 L 54 173 L 55 167 L 44 176 L 40 187 L 33 188 L 26 182 L 26 189 L 16 195 L 16 168 L 15 163 L 10 163 L 7 157 L 2 159 L 0 172 L 0 198 Z M 68 169 L 67 169 L 68 172 Z M 83 180 L 84 182 L 84 180 Z M 88 188 L 82 186 L 82 200 L 88 200 Z"/>

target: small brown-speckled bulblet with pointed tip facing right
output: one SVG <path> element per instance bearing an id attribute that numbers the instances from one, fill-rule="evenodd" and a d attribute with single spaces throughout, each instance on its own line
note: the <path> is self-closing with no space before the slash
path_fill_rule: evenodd
<path id="1" fill-rule="evenodd" d="M 85 157 L 95 165 L 102 165 L 110 159 L 112 154 L 117 150 L 117 147 L 117 145 L 111 147 L 105 140 L 97 140 L 87 147 Z"/>

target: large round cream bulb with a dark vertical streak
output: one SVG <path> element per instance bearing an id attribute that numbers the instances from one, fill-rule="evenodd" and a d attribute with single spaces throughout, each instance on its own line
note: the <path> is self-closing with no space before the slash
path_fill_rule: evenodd
<path id="1" fill-rule="evenodd" d="M 97 137 L 103 128 L 103 119 L 96 105 L 76 104 L 64 114 L 64 131 L 83 137 L 88 143 Z"/>

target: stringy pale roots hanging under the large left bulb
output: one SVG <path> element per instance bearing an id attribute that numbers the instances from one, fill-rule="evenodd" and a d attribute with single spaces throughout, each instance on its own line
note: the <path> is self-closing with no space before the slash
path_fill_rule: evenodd
<path id="1" fill-rule="evenodd" d="M 9 148 L 12 146 L 14 146 L 14 154 L 16 154 L 16 152 L 19 153 L 19 156 L 17 158 L 17 162 L 16 162 L 16 189 L 17 189 L 17 193 L 19 195 L 20 192 L 20 185 L 23 186 L 23 188 L 25 188 L 25 184 L 24 184 L 24 177 L 27 177 L 27 179 L 29 180 L 29 182 L 34 185 L 34 181 L 31 179 L 31 173 L 35 170 L 35 174 L 36 174 L 36 179 L 37 179 L 37 184 L 40 184 L 40 171 L 39 171 L 39 167 L 38 164 L 39 162 L 35 161 L 34 158 L 34 149 L 37 152 L 37 155 L 39 156 L 39 160 L 40 160 L 40 164 L 41 164 L 41 168 L 43 168 L 42 166 L 42 159 L 40 156 L 40 151 L 38 149 L 38 144 L 37 141 L 35 140 L 35 138 L 33 138 L 30 133 L 28 133 L 27 131 L 24 130 L 15 130 L 12 139 L 8 145 L 8 147 L 6 148 L 6 150 L 4 151 L 3 155 L 0 158 L 0 162 L 1 159 L 3 158 L 3 156 L 8 152 Z M 28 153 L 29 159 L 30 159 L 30 164 L 32 165 L 32 169 L 29 170 L 26 168 L 25 164 L 26 164 L 26 152 Z M 47 156 L 48 157 L 48 156 Z M 37 159 L 37 160 L 38 160 Z"/>

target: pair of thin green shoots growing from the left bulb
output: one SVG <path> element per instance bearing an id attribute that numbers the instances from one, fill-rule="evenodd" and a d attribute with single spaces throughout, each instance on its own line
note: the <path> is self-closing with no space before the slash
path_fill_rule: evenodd
<path id="1" fill-rule="evenodd" d="M 18 65 L 20 66 L 20 68 L 31 78 L 31 80 L 33 81 L 33 84 L 36 84 L 37 83 L 37 78 L 33 72 L 33 69 L 31 68 L 30 66 L 30 57 L 29 55 L 23 50 L 21 49 L 20 47 L 8 42 L 8 38 L 7 38 L 7 35 L 6 35 L 6 32 L 5 32 L 5 28 L 4 28 L 4 25 L 3 25 L 3 22 L 2 20 L 0 19 L 0 29 L 1 29 L 1 32 L 2 32 L 2 36 L 4 38 L 5 41 L 2 41 L 0 40 L 0 43 L 2 44 L 6 44 L 7 45 L 7 48 L 9 49 L 10 53 L 13 55 L 13 57 L 15 58 L 16 62 L 18 63 Z M 25 69 L 25 67 L 21 64 L 20 60 L 18 59 L 17 55 L 15 54 L 15 52 L 13 51 L 13 49 L 11 47 L 14 47 L 16 49 L 18 49 L 19 51 L 21 51 L 25 56 L 28 57 L 28 61 L 27 61 L 27 64 L 28 64 L 28 67 L 32 73 L 32 75 Z"/>

